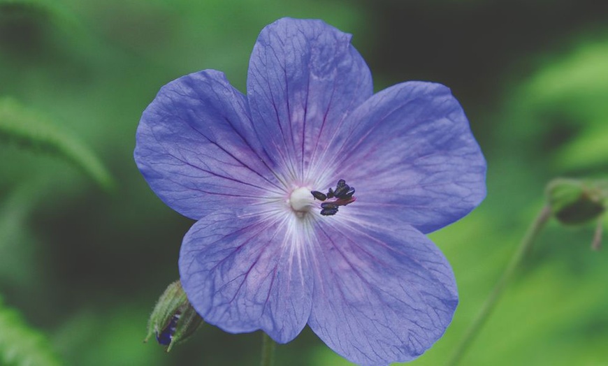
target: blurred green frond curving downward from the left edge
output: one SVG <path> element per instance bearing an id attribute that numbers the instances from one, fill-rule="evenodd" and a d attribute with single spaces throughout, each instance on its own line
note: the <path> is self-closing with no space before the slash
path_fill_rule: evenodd
<path id="1" fill-rule="evenodd" d="M 13 98 L 0 98 L 0 141 L 55 154 L 80 168 L 103 189 L 110 190 L 114 186 L 110 173 L 91 149 L 50 119 L 29 110 Z"/>

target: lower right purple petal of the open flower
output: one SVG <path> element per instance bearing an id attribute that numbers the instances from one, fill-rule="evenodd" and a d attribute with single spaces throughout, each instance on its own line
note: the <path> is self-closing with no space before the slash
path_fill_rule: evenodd
<path id="1" fill-rule="evenodd" d="M 308 324 L 331 349 L 382 365 L 412 360 L 443 335 L 458 304 L 454 273 L 422 233 L 335 220 L 317 238 Z"/>

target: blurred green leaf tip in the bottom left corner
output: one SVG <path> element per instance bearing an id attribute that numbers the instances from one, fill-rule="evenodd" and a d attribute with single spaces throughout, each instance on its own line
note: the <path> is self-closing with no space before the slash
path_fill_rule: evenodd
<path id="1" fill-rule="evenodd" d="M 29 328 L 14 309 L 4 307 L 0 300 L 0 365 L 59 366 L 62 365 L 48 338 Z"/>

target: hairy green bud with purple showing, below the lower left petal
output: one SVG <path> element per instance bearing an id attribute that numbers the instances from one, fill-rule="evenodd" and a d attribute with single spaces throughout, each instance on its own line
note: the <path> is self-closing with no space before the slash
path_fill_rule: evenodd
<path id="1" fill-rule="evenodd" d="M 159 344 L 167 346 L 168 352 L 174 344 L 193 335 L 202 324 L 203 318 L 190 305 L 178 280 L 166 288 L 154 307 L 144 342 L 155 335 Z"/>

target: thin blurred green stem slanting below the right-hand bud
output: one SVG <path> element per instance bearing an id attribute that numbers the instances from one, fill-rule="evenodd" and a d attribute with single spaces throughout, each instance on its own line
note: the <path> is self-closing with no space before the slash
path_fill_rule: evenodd
<path id="1" fill-rule="evenodd" d="M 507 288 L 507 284 L 509 284 L 509 281 L 513 278 L 513 274 L 516 272 L 519 264 L 523 258 L 526 258 L 526 255 L 529 253 L 538 233 L 540 233 L 540 230 L 544 228 L 544 224 L 547 223 L 550 217 L 551 209 L 549 207 L 543 207 L 533 224 L 530 226 L 530 228 L 528 228 L 526 236 L 524 236 L 523 240 L 521 240 L 519 248 L 511 258 L 505 272 L 502 273 L 502 277 L 500 277 L 498 283 L 494 286 L 492 293 L 487 298 L 486 302 L 484 302 L 484 306 L 479 314 L 477 314 L 477 318 L 475 318 L 475 321 L 473 321 L 468 330 L 465 332 L 461 342 L 458 344 L 458 346 L 456 346 L 456 349 L 451 354 L 451 358 L 449 358 L 446 365 L 458 365 L 458 362 L 465 355 L 466 351 L 475 340 L 475 337 L 479 334 L 479 330 L 482 330 L 484 323 L 486 323 L 492 314 L 494 307 L 498 303 L 498 300 L 500 300 L 502 292 L 505 291 L 505 288 Z"/>

